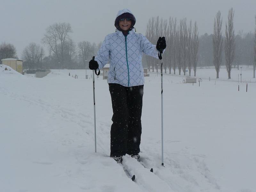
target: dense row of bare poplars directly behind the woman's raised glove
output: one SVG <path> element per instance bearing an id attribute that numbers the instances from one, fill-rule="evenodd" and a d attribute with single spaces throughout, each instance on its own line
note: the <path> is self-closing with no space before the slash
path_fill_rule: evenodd
<path id="1" fill-rule="evenodd" d="M 196 76 L 197 55 L 199 47 L 198 27 L 196 22 L 193 24 L 190 20 L 187 23 L 187 19 L 184 18 L 177 22 L 176 18 L 170 17 L 169 20 L 164 20 L 159 17 L 152 17 L 149 19 L 146 30 L 146 37 L 150 42 L 155 42 L 159 36 L 165 36 L 166 50 L 163 57 L 164 72 L 176 74 L 178 70 L 179 75 L 181 71 L 183 75 L 186 75 L 188 69 L 189 76 L 191 76 L 191 70 L 194 69 L 194 76 Z M 158 71 L 159 60 L 145 56 L 145 60 L 148 65 L 148 70 L 152 67 Z"/>

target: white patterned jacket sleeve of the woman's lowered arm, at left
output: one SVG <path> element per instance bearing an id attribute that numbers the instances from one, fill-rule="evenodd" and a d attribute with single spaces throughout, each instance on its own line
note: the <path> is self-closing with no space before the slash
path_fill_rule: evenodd
<path id="1" fill-rule="evenodd" d="M 103 68 L 109 60 L 109 41 L 108 36 L 105 37 L 102 45 L 97 52 L 97 56 L 95 57 L 95 61 L 99 64 L 99 69 Z"/>

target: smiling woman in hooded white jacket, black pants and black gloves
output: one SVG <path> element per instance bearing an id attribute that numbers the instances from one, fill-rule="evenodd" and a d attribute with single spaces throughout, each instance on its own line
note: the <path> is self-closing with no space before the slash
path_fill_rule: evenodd
<path id="1" fill-rule="evenodd" d="M 116 33 L 108 34 L 89 68 L 101 69 L 110 61 L 109 92 L 113 108 L 110 131 L 110 156 L 122 163 L 125 154 L 140 158 L 141 112 L 144 86 L 142 52 L 158 58 L 166 47 L 165 38 L 151 44 L 142 34 L 135 33 L 136 19 L 128 9 L 117 13 Z"/>

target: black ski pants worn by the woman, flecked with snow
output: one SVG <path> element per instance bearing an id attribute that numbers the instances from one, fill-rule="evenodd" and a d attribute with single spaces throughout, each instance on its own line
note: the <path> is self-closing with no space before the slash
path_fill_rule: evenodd
<path id="1" fill-rule="evenodd" d="M 140 152 L 143 86 L 125 87 L 110 83 L 113 108 L 110 131 L 110 156 Z"/>

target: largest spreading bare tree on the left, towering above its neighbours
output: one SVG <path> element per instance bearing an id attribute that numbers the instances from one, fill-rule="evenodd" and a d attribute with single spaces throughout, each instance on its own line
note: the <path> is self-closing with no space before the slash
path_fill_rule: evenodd
<path id="1" fill-rule="evenodd" d="M 65 44 L 72 32 L 69 23 L 55 23 L 46 28 L 46 33 L 42 39 L 47 44 L 50 51 L 54 52 L 59 62 L 63 63 L 65 54 Z"/>

